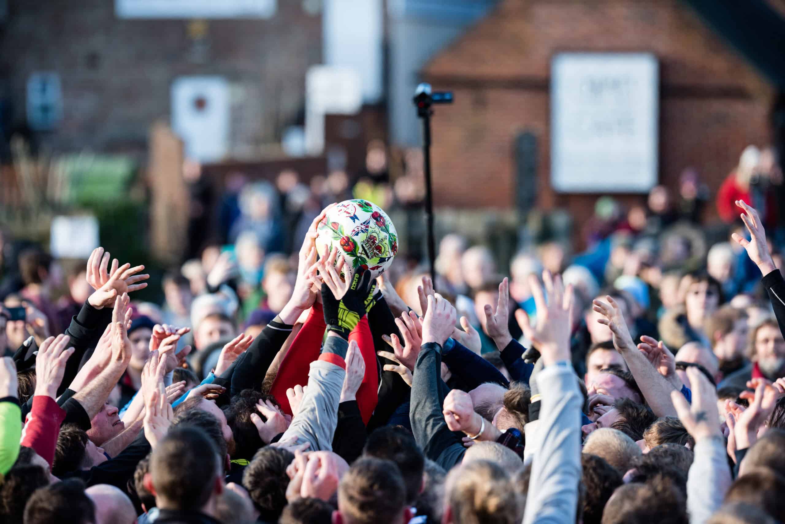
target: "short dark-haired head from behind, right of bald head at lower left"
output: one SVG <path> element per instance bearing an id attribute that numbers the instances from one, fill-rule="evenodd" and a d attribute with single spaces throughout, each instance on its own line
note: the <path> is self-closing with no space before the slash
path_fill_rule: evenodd
<path id="1" fill-rule="evenodd" d="M 213 439 L 202 429 L 170 429 L 150 457 L 156 500 L 172 509 L 203 508 L 221 475 L 219 464 Z"/>

